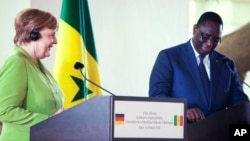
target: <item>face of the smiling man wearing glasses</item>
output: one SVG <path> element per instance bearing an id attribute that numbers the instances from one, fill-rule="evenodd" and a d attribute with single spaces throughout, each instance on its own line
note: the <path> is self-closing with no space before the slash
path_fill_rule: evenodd
<path id="1" fill-rule="evenodd" d="M 193 29 L 193 44 L 195 50 L 201 55 L 207 55 L 221 41 L 222 25 L 212 21 L 206 21 L 199 27 L 194 25 Z"/>

